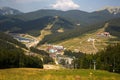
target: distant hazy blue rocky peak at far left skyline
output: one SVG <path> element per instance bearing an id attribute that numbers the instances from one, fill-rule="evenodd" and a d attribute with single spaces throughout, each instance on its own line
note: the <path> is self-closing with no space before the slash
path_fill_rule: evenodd
<path id="1" fill-rule="evenodd" d="M 0 7 L 0 15 L 18 15 L 18 14 L 22 14 L 22 12 L 10 7 Z"/>

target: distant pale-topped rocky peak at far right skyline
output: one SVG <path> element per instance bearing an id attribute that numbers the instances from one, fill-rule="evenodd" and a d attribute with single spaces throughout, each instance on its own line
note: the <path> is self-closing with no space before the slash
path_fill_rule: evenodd
<path id="1" fill-rule="evenodd" d="M 97 21 L 107 21 L 120 17 L 120 7 L 106 7 L 91 14 L 98 19 Z"/>

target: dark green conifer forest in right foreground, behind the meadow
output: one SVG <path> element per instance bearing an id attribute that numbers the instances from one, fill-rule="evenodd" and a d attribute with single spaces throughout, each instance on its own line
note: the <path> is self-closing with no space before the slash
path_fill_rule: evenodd
<path id="1" fill-rule="evenodd" d="M 120 73 L 120 43 L 109 45 L 96 54 L 65 51 L 65 55 L 75 57 L 74 68 L 77 69 L 93 69 L 95 65 L 98 70 Z"/>

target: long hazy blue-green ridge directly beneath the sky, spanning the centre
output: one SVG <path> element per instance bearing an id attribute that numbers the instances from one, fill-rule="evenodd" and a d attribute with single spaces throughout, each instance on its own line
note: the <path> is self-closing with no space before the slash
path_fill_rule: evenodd
<path id="1" fill-rule="evenodd" d="M 108 9 L 94 11 L 91 13 L 81 10 L 61 11 L 61 10 L 41 9 L 34 12 L 24 13 L 22 15 L 16 15 L 13 17 L 24 21 L 29 21 L 29 20 L 39 19 L 45 16 L 60 16 L 75 24 L 81 24 L 81 26 L 87 26 L 94 23 L 104 22 L 113 18 L 120 17 L 118 10 L 119 8 L 117 8 L 116 10 L 117 14 L 115 15 L 115 14 L 111 14 L 108 11 Z"/>

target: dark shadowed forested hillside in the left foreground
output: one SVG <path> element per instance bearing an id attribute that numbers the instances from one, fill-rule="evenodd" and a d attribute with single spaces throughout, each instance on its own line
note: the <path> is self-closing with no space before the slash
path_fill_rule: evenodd
<path id="1" fill-rule="evenodd" d="M 26 47 L 10 35 L 0 32 L 0 68 L 43 67 L 41 59 L 25 55 L 21 48 Z"/>

